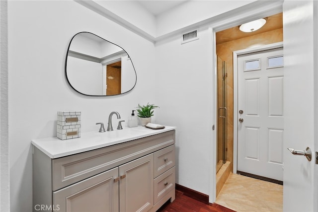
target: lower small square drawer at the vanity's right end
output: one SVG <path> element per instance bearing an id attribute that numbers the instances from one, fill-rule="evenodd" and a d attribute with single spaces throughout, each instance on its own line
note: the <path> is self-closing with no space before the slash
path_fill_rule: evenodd
<path id="1" fill-rule="evenodd" d="M 154 180 L 154 204 L 175 188 L 175 167 L 164 172 Z"/>

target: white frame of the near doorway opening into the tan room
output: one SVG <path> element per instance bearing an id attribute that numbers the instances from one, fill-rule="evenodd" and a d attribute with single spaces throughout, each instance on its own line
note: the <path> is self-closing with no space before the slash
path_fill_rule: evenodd
<path id="1" fill-rule="evenodd" d="M 259 1 L 261 3 L 261 1 Z M 246 5 L 246 8 L 242 13 L 240 14 L 231 14 L 231 11 L 229 12 L 229 15 L 225 15 L 224 19 L 219 19 L 215 23 L 211 24 L 209 27 L 209 37 L 211 37 L 211 43 L 209 44 L 211 46 L 211 51 L 209 54 L 212 56 L 211 61 L 211 68 L 213 69 L 213 76 L 212 76 L 212 82 L 214 83 L 213 86 L 213 96 L 212 99 L 212 123 L 214 124 L 214 132 L 211 132 L 210 134 L 210 140 L 213 142 L 210 142 L 210 149 L 213 154 L 211 154 L 210 161 L 210 170 L 209 170 L 209 203 L 214 203 L 216 200 L 216 146 L 217 146 L 217 91 L 218 91 L 218 85 L 217 85 L 217 53 L 216 53 L 216 32 L 222 31 L 234 26 L 238 26 L 242 23 L 246 23 L 248 21 L 252 21 L 258 18 L 274 15 L 277 13 L 280 13 L 283 11 L 282 8 L 283 1 L 271 1 L 266 2 L 266 4 L 262 4 L 261 6 L 258 6 L 257 8 L 251 8 L 248 5 Z M 243 8 L 243 7 L 242 7 Z"/>

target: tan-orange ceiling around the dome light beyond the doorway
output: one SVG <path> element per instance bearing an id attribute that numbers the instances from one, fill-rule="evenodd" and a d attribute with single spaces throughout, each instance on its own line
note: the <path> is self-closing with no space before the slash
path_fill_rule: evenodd
<path id="1" fill-rule="evenodd" d="M 265 25 L 253 32 L 242 32 L 239 30 L 239 26 L 235 26 L 229 29 L 216 33 L 217 44 L 237 40 L 243 37 L 260 34 L 263 32 L 272 31 L 275 29 L 283 28 L 283 13 L 278 13 L 267 17 Z"/>

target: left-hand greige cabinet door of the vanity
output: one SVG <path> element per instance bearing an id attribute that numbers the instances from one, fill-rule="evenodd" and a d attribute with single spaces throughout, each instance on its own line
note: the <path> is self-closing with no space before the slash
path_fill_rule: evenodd
<path id="1" fill-rule="evenodd" d="M 118 212 L 118 167 L 53 192 L 60 212 Z"/>

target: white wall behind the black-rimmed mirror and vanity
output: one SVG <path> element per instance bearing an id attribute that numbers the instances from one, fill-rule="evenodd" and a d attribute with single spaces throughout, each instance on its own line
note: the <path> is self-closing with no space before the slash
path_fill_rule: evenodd
<path id="1" fill-rule="evenodd" d="M 65 57 L 80 31 L 129 53 L 138 78 L 131 92 L 87 97 L 72 90 L 65 78 Z M 87 132 L 98 130 L 96 122 L 106 124 L 111 111 L 127 122 L 138 104 L 159 105 L 148 89 L 155 78 L 155 50 L 153 43 L 70 0 L 9 1 L 8 37 L 10 206 L 11 212 L 26 212 L 32 211 L 31 139 L 56 136 L 57 111 L 81 111 L 81 130 Z"/>

